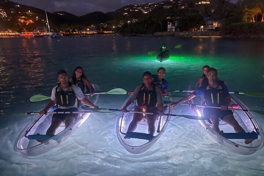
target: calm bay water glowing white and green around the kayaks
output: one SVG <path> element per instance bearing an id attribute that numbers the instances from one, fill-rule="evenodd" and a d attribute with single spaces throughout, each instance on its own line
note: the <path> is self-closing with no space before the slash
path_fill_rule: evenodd
<path id="1" fill-rule="evenodd" d="M 160 63 L 157 51 L 166 43 L 170 59 Z M 174 46 L 182 45 L 181 49 Z M 101 90 L 132 91 L 142 74 L 167 70 L 170 89 L 187 89 L 201 76 L 203 65 L 218 69 L 229 91 L 264 91 L 264 40 L 176 37 L 62 37 L 0 39 L 0 170 L 3 175 L 262 175 L 264 150 L 253 155 L 232 153 L 216 143 L 198 121 L 175 118 L 161 139 L 142 155 L 132 155 L 119 144 L 117 114 L 92 114 L 62 145 L 38 157 L 13 151 L 18 134 L 47 101 L 32 103 L 35 94 L 50 96 L 56 73 L 69 75 L 77 66 Z M 126 95 L 102 95 L 98 106 L 121 108 Z M 250 109 L 264 111 L 264 98 L 239 95 Z M 175 99 L 176 101 L 176 99 Z M 175 113 L 191 114 L 177 107 Z M 262 128 L 264 116 L 256 114 Z M 84 135 L 85 134 L 85 135 Z M 214 169 L 212 169 L 214 168 Z M 198 171 L 197 171 L 198 170 Z M 2 175 L 1 174 L 1 175 Z"/>

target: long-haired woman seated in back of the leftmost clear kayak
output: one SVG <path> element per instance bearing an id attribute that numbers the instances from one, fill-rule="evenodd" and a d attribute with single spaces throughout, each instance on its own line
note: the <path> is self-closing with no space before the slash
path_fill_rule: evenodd
<path id="1" fill-rule="evenodd" d="M 90 93 L 91 97 L 94 95 L 94 88 L 92 87 L 90 81 L 85 77 L 82 67 L 76 67 L 74 69 L 70 82 L 80 87 L 82 93 Z"/>

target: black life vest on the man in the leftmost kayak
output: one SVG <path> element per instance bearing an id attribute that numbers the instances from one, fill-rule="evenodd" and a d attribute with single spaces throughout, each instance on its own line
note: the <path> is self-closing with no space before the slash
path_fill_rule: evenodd
<path id="1" fill-rule="evenodd" d="M 70 87 L 65 92 L 63 92 L 62 88 L 60 87 L 60 83 L 58 84 L 55 97 L 59 106 L 69 107 L 78 104 L 78 99 L 72 89 L 72 83 L 69 82 L 69 86 Z"/>

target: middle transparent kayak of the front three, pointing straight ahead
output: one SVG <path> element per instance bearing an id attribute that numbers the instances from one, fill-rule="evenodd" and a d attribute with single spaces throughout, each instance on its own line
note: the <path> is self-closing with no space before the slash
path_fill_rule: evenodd
<path id="1" fill-rule="evenodd" d="M 170 95 L 170 93 L 168 93 Z M 168 98 L 169 101 L 172 101 L 172 98 Z M 125 106 L 125 101 L 122 107 Z M 133 107 L 128 107 L 127 110 L 133 110 Z M 167 107 L 167 110 L 164 112 L 172 114 L 172 109 Z M 132 154 L 141 154 L 147 150 L 149 150 L 150 147 L 152 147 L 159 139 L 159 137 L 164 133 L 166 130 L 169 121 L 171 119 L 170 116 L 162 116 L 159 117 L 158 120 L 155 123 L 155 133 L 154 137 L 152 135 L 148 134 L 148 124 L 147 119 L 144 118 L 137 126 L 136 130 L 134 132 L 130 132 L 130 135 L 133 136 L 130 139 L 124 139 L 127 132 L 127 128 L 130 124 L 130 122 L 133 119 L 133 113 L 127 112 L 119 113 L 119 117 L 117 118 L 116 123 L 116 135 L 120 142 L 120 144 L 125 147 L 125 149 L 132 153 Z"/>

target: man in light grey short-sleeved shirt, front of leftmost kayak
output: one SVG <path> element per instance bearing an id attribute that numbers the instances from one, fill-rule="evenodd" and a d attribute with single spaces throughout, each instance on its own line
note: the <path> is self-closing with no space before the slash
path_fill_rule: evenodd
<path id="1" fill-rule="evenodd" d="M 57 103 L 57 109 L 55 112 L 74 112 L 78 111 L 78 101 L 87 106 L 93 108 L 99 108 L 85 98 L 82 93 L 81 88 L 77 87 L 73 83 L 68 82 L 67 72 L 64 70 L 59 70 L 57 73 L 59 83 L 52 89 L 51 98 L 47 106 L 40 111 L 40 114 L 47 114 L 47 111 Z M 60 124 L 65 121 L 65 128 L 71 125 L 77 118 L 78 113 L 70 114 L 54 114 L 52 116 L 51 124 L 46 132 L 46 134 L 55 134 L 56 129 Z M 37 140 L 38 142 L 44 142 L 45 140 Z"/>

